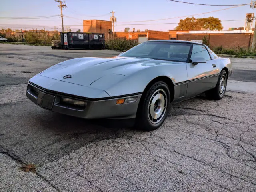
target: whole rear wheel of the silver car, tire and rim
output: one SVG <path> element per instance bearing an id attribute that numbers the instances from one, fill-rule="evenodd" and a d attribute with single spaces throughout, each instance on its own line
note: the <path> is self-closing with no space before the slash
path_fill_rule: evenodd
<path id="1" fill-rule="evenodd" d="M 228 75 L 226 71 L 220 72 L 216 87 L 205 92 L 207 98 L 212 100 L 221 100 L 226 92 Z"/>

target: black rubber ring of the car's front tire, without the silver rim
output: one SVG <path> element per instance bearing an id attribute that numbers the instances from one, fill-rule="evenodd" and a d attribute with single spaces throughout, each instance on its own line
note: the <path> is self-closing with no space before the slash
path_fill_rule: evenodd
<path id="1" fill-rule="evenodd" d="M 152 122 L 150 122 L 150 120 L 148 118 L 148 105 L 149 105 L 152 95 L 158 89 L 163 89 L 166 92 L 167 105 L 166 105 L 166 112 L 165 112 L 163 118 L 160 120 L 160 122 L 153 124 Z M 144 130 L 155 130 L 162 125 L 162 123 L 164 122 L 164 120 L 166 119 L 166 117 L 168 115 L 168 109 L 170 106 L 170 90 L 166 83 L 161 82 L 161 81 L 156 82 L 150 87 L 150 89 L 146 93 L 146 96 L 142 99 L 144 99 L 144 102 L 142 103 L 142 106 L 141 106 L 142 110 L 141 110 L 141 114 L 139 117 L 139 118 L 141 118 L 139 120 L 141 122 L 140 127 Z"/>

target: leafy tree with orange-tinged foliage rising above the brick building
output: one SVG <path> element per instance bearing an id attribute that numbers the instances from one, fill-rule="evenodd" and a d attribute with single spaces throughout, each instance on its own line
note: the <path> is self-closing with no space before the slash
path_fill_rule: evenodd
<path id="1" fill-rule="evenodd" d="M 180 19 L 176 30 L 222 30 L 222 24 L 219 18 L 208 17 L 208 18 L 194 18 L 187 17 Z"/>

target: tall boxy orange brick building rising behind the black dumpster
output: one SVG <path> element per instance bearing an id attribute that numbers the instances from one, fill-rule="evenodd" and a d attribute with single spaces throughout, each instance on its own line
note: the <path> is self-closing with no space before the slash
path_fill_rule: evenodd
<path id="1" fill-rule="evenodd" d="M 97 20 L 97 19 L 83 20 L 83 32 L 104 33 L 105 38 L 108 38 L 109 30 L 112 31 L 111 21 Z"/>

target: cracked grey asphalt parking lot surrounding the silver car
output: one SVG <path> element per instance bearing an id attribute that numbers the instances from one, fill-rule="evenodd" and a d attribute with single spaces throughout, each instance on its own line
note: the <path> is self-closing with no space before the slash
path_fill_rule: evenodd
<path id="1" fill-rule="evenodd" d="M 0 44 L 0 191 L 256 191 L 256 59 L 231 58 L 220 101 L 170 107 L 155 131 L 132 120 L 84 120 L 25 96 L 38 72 L 108 50 Z M 24 164 L 36 172 L 23 172 Z"/>

